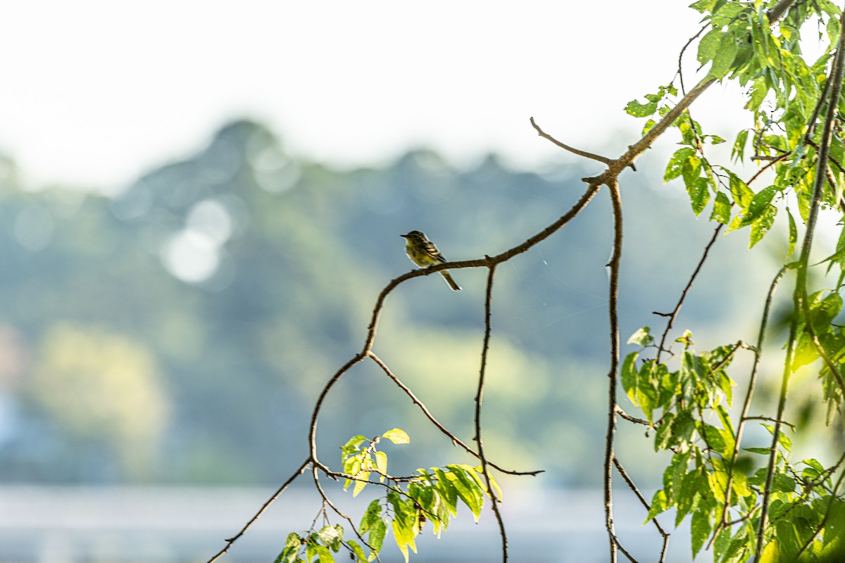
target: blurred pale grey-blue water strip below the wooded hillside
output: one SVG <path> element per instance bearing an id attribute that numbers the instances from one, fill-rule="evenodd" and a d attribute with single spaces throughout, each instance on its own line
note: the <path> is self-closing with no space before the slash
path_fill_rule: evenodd
<path id="1" fill-rule="evenodd" d="M 0 562 L 175 563 L 205 561 L 224 546 L 273 493 L 272 487 L 205 489 L 164 487 L 0 487 Z M 602 494 L 597 490 L 506 491 L 502 514 L 510 559 L 530 563 L 602 563 L 608 560 Z M 364 496 L 364 495 L 363 495 Z M 642 507 L 627 492 L 615 503 L 617 533 L 638 560 L 657 560 L 660 539 L 641 527 Z M 366 499 L 337 506 L 357 519 Z M 308 490 L 289 490 L 223 556 L 222 561 L 271 563 L 289 532 L 313 521 L 319 501 Z M 338 519 L 335 518 L 335 521 Z M 342 521 L 341 521 L 342 523 Z M 672 531 L 665 518 L 664 528 Z M 481 521 L 459 509 L 437 539 L 428 527 L 417 540 L 419 563 L 494 561 L 501 539 L 493 514 Z M 689 561 L 683 531 L 670 541 L 668 562 Z M 620 558 L 622 555 L 620 555 Z M 704 560 L 709 555 L 702 555 Z M 338 554 L 337 560 L 346 560 Z M 385 562 L 402 557 L 390 536 Z"/>

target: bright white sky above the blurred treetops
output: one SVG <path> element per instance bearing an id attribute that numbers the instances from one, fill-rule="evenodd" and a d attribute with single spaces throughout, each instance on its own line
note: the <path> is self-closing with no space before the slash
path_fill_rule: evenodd
<path id="1" fill-rule="evenodd" d="M 108 188 L 242 116 L 341 166 L 419 146 L 461 164 L 491 150 L 520 166 L 575 158 L 530 116 L 567 143 L 621 151 L 642 121 L 625 103 L 668 83 L 698 30 L 687 4 L 5 3 L 0 152 L 30 182 Z"/>

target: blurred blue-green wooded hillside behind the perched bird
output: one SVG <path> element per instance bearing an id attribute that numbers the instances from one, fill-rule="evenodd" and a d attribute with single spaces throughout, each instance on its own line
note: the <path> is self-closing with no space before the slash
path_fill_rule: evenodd
<path id="1" fill-rule="evenodd" d="M 683 188 L 649 184 L 662 173 L 647 160 L 641 169 L 623 184 L 624 337 L 662 328 L 651 311 L 671 311 L 715 226 L 693 218 Z M 423 230 L 450 259 L 492 255 L 564 214 L 593 172 L 540 176 L 493 157 L 459 171 L 427 151 L 334 171 L 292 158 L 253 122 L 224 127 L 114 199 L 24 191 L 3 162 L 0 480 L 278 482 L 305 458 L 313 401 L 360 349 L 379 290 L 412 268 L 399 234 Z M 545 468 L 559 485 L 598 483 L 610 233 L 602 191 L 497 273 L 488 456 Z M 735 290 L 767 284 L 766 252 L 782 249 L 760 245 L 740 269 L 746 237 L 717 242 L 679 318 L 706 328 L 702 348 L 753 338 L 730 311 L 762 303 L 738 303 Z M 461 292 L 439 276 L 395 291 L 375 350 L 468 440 L 485 272 L 454 275 Z M 406 468 L 457 456 L 370 365 L 323 413 L 326 462 L 349 436 L 394 426 L 417 446 L 396 452 Z"/>

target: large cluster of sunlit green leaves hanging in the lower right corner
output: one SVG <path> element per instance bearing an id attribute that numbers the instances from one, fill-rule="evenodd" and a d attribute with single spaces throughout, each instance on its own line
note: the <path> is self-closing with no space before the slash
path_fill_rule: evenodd
<path id="1" fill-rule="evenodd" d="M 831 295 L 815 296 L 814 318 L 819 322 L 829 322 L 842 306 Z M 683 349 L 671 360 L 647 359 L 638 366 L 639 357 L 656 348 L 650 329 L 641 328 L 628 342 L 640 345 L 641 350 L 624 360 L 624 391 L 655 430 L 655 450 L 673 454 L 663 472 L 662 488 L 651 499 L 646 522 L 673 508 L 676 526 L 690 517 L 693 557 L 712 544 L 720 563 L 747 560 L 755 552 L 760 506 L 771 479 L 764 532 L 767 550 L 760 560 L 809 561 L 840 549 L 841 534 L 831 528 L 831 521 L 840 522 L 839 506 L 845 506 L 831 482 L 836 467 L 824 468 L 812 458 L 793 467 L 789 463 L 792 441 L 782 431 L 777 431 L 774 452 L 771 447 L 737 443 L 739 432 L 728 413 L 734 383 L 727 370 L 742 349 L 740 344 L 696 353 L 686 332 L 676 340 Z M 677 369 L 671 369 L 670 362 Z M 774 425 L 762 426 L 776 433 Z M 761 464 L 770 456 L 775 458 L 771 478 Z"/>

